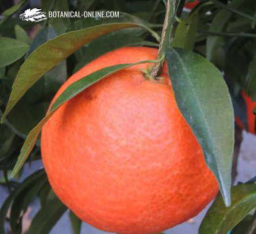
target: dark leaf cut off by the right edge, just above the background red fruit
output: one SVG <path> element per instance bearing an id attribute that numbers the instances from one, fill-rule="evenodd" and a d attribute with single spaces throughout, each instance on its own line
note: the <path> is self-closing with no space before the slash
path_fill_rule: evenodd
<path id="1" fill-rule="evenodd" d="M 247 94 L 251 97 L 251 100 L 256 102 L 256 52 L 253 60 L 249 63 L 246 80 Z"/>

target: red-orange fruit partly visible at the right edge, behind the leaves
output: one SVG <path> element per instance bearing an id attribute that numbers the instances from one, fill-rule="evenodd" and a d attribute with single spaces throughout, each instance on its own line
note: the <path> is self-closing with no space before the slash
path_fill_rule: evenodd
<path id="1" fill-rule="evenodd" d="M 239 117 L 236 117 L 236 124 L 242 128 L 251 132 L 252 134 L 256 134 L 256 117 L 253 114 L 253 109 L 256 107 L 256 102 L 253 102 L 249 96 L 246 95 L 245 91 L 242 91 L 242 96 L 246 105 L 246 114 L 247 114 L 247 127 L 244 126 L 244 123 L 240 120 Z"/>

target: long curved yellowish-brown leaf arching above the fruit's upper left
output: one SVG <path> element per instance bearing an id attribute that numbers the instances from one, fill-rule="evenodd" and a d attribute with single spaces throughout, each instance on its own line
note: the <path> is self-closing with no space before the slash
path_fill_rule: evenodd
<path id="1" fill-rule="evenodd" d="M 136 26 L 137 24 L 131 23 L 104 24 L 93 28 L 70 31 L 38 47 L 28 56 L 18 72 L 12 85 L 11 96 L 1 119 L 1 123 L 3 123 L 6 115 L 11 111 L 12 107 L 16 105 L 24 93 L 32 87 L 38 79 L 47 73 L 47 71 L 53 69 L 58 62 L 67 58 L 86 43 L 93 41 L 96 37 L 105 35 L 110 31 Z"/>

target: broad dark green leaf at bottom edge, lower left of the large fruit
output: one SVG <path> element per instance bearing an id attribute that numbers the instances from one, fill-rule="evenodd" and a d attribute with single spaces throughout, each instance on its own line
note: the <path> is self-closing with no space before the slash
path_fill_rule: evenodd
<path id="1" fill-rule="evenodd" d="M 66 206 L 57 197 L 54 197 L 37 212 L 27 234 L 49 233 L 66 210 Z"/>

